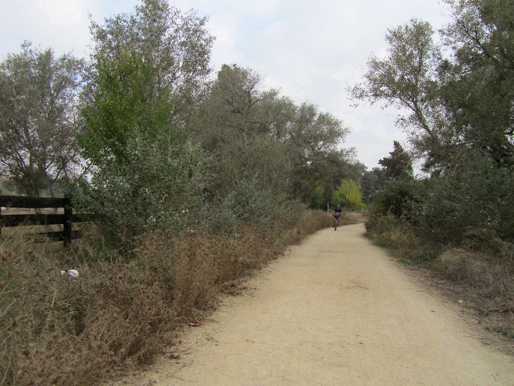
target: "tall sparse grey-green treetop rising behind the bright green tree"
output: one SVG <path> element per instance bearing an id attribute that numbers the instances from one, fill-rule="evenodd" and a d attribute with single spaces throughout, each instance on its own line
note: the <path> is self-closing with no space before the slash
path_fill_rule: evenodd
<path id="1" fill-rule="evenodd" d="M 149 79 L 149 95 L 169 94 L 174 108 L 168 117 L 182 124 L 188 109 L 201 97 L 210 74 L 210 50 L 214 38 L 205 24 L 207 17 L 193 11 L 182 13 L 165 0 L 141 0 L 132 14 L 118 14 L 103 25 L 91 21 L 95 50 L 86 74 L 89 84 L 98 80 L 97 63 L 115 61 L 135 53 L 155 69 Z M 91 102 L 94 92 L 85 90 Z"/>

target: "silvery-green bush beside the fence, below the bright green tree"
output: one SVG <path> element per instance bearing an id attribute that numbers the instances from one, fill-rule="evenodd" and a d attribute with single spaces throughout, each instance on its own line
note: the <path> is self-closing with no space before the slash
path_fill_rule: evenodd
<path id="1" fill-rule="evenodd" d="M 124 162 L 105 164 L 85 187 L 82 207 L 100 216 L 106 246 L 130 251 L 135 236 L 150 230 L 178 231 L 204 221 L 208 160 L 192 146 L 163 146 L 127 138 Z"/>

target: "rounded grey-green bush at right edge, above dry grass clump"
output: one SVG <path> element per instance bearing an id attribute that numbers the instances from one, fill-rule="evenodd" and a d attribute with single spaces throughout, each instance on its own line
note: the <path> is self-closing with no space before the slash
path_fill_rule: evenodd
<path id="1" fill-rule="evenodd" d="M 512 242 L 514 173 L 480 153 L 455 157 L 454 165 L 417 184 L 410 216 L 418 232 L 444 244 L 463 242 L 470 230 L 488 229 Z"/>

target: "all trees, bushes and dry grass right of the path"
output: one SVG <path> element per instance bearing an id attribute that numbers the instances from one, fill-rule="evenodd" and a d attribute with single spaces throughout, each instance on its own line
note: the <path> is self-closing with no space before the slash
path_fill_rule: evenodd
<path id="1" fill-rule="evenodd" d="M 409 152 L 395 142 L 367 174 L 380 189 L 365 225 L 400 259 L 439 271 L 482 313 L 502 317 L 494 330 L 511 332 L 514 13 L 507 2 L 448 3 L 452 22 L 438 39 L 420 20 L 391 28 L 387 56 L 371 57 L 352 89 L 400 107 L 397 123 L 410 134 Z"/>

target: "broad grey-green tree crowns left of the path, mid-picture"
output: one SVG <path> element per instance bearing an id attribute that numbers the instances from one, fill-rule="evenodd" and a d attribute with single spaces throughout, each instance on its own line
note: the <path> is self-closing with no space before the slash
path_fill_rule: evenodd
<path id="1" fill-rule="evenodd" d="M 349 159 L 337 149 L 349 130 L 314 104 L 297 106 L 263 89 L 260 79 L 250 68 L 222 66 L 188 131 L 218 161 L 218 193 L 230 191 L 245 170 L 307 202 Z"/>

